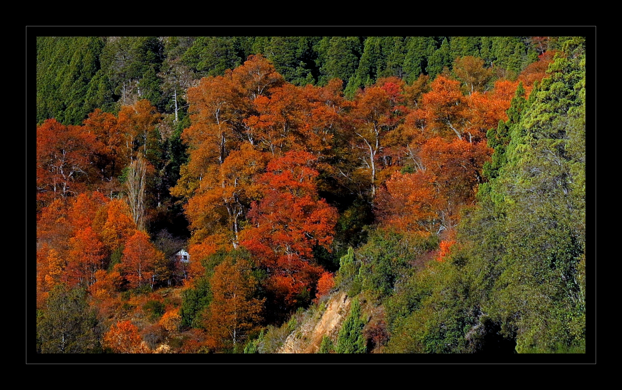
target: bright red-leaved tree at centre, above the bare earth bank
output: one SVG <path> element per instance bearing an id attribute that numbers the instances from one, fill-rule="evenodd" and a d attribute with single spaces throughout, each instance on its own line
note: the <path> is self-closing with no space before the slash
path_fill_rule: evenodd
<path id="1" fill-rule="evenodd" d="M 337 211 L 319 199 L 307 152 L 289 152 L 267 166 L 260 202 L 253 202 L 242 245 L 261 259 L 279 305 L 291 307 L 297 295 L 311 289 L 322 274 L 313 262 L 313 247 L 330 250 Z M 281 309 L 281 310 L 282 310 Z"/>

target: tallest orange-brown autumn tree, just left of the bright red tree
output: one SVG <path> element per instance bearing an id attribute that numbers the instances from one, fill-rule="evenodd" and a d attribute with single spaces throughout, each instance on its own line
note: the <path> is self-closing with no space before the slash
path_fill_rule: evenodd
<path id="1" fill-rule="evenodd" d="M 281 75 L 258 55 L 188 90 L 192 126 L 183 132 L 183 139 L 190 160 L 182 165 L 171 193 L 190 200 L 186 213 L 194 243 L 221 234 L 237 244 L 239 223 L 250 204 L 251 179 L 266 164 L 256 129 L 246 119 L 257 113 L 253 102 L 267 99 L 282 83 Z"/>

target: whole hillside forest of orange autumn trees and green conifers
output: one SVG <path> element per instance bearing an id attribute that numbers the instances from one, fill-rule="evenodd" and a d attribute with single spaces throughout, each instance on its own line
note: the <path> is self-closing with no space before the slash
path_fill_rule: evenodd
<path id="1" fill-rule="evenodd" d="M 36 57 L 37 354 L 586 353 L 585 37 Z"/>

